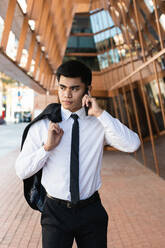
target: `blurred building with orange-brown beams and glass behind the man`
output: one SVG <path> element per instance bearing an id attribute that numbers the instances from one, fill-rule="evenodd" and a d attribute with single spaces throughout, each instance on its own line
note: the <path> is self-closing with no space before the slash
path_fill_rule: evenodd
<path id="1" fill-rule="evenodd" d="M 69 59 L 92 69 L 92 95 L 138 132 L 135 157 L 165 177 L 165 1 L 0 1 L 1 118 L 28 121 L 57 102 L 55 72 Z"/>

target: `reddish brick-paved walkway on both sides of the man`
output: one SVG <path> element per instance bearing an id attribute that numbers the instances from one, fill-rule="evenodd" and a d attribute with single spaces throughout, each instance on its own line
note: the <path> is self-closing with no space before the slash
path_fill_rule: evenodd
<path id="1" fill-rule="evenodd" d="M 41 248 L 40 213 L 23 198 L 13 167 L 17 155 L 0 158 L 0 248 Z M 105 152 L 102 179 L 108 248 L 164 248 L 165 181 L 120 152 Z"/>

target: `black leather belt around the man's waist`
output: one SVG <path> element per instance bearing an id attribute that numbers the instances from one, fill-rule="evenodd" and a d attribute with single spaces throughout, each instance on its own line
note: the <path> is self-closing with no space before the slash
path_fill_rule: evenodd
<path id="1" fill-rule="evenodd" d="M 54 200 L 55 202 L 57 202 L 59 205 L 65 205 L 67 208 L 75 208 L 75 207 L 85 207 L 87 205 L 89 205 L 90 203 L 96 202 L 100 200 L 100 196 L 98 191 L 96 191 L 92 196 L 90 196 L 89 198 L 85 199 L 85 200 L 80 200 L 78 201 L 76 204 L 70 202 L 70 201 L 65 201 L 65 200 L 61 200 L 58 198 L 55 198 L 51 195 L 49 195 L 47 193 L 47 197 Z"/>

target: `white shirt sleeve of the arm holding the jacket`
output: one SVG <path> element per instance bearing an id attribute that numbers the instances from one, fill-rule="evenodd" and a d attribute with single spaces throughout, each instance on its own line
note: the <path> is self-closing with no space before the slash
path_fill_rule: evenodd
<path id="1" fill-rule="evenodd" d="M 49 153 L 44 150 L 40 136 L 39 124 L 33 124 L 26 137 L 22 151 L 16 163 L 16 174 L 20 179 L 26 179 L 38 172 L 45 164 Z"/>

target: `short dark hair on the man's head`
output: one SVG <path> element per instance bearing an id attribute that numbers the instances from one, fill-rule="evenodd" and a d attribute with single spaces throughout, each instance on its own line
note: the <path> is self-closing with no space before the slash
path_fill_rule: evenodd
<path id="1" fill-rule="evenodd" d="M 60 76 L 64 77 L 80 77 L 81 81 L 86 85 L 91 85 L 92 72 L 91 70 L 82 62 L 77 60 L 69 60 L 61 64 L 56 71 L 56 76 L 58 82 L 60 81 Z"/>

